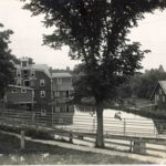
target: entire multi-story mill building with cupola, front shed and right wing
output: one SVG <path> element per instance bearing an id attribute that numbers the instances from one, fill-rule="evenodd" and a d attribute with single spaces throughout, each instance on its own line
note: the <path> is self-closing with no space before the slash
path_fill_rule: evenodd
<path id="1" fill-rule="evenodd" d="M 21 58 L 20 64 L 15 64 L 14 85 L 6 94 L 6 105 L 32 111 L 35 120 L 49 122 L 53 118 L 64 122 L 68 113 L 72 123 L 74 106 L 69 104 L 72 93 L 70 72 L 55 72 L 46 64 L 32 64 L 29 58 Z"/>

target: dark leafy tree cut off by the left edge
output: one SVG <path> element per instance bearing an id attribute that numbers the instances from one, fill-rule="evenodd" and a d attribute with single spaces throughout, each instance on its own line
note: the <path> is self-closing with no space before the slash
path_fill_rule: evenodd
<path id="1" fill-rule="evenodd" d="M 11 30 L 3 30 L 0 23 L 0 98 L 3 97 L 9 83 L 13 82 L 13 61 L 15 56 L 11 54 L 9 49 Z"/>

